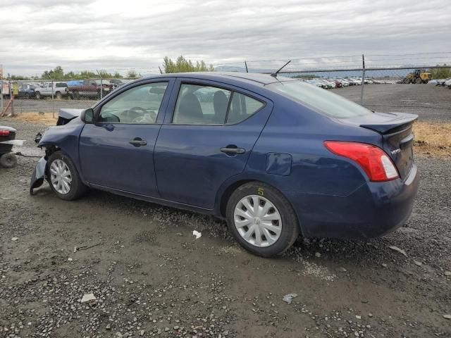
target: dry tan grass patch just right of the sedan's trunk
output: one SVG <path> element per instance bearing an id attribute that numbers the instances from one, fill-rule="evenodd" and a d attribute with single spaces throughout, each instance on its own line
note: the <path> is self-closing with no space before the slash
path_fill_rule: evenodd
<path id="1" fill-rule="evenodd" d="M 451 123 L 416 122 L 414 133 L 417 154 L 451 156 Z"/>

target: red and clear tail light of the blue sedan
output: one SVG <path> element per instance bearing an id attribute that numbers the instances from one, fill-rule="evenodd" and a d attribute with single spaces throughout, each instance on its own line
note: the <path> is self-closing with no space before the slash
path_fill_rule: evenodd
<path id="1" fill-rule="evenodd" d="M 350 158 L 359 164 L 373 182 L 390 181 L 399 177 L 393 161 L 378 146 L 338 141 L 326 141 L 324 145 L 333 154 Z"/>

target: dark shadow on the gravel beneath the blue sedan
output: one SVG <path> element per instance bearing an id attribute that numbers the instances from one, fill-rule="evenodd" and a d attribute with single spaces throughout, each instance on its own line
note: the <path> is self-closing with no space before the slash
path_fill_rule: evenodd
<path id="1" fill-rule="evenodd" d="M 58 201 L 48 184 L 37 190 L 37 197 L 51 198 Z M 64 202 L 64 204 L 83 204 L 84 210 L 97 210 L 107 208 L 111 213 L 121 213 L 130 215 L 130 225 L 133 218 L 136 220 L 147 218 L 149 221 L 156 221 L 157 226 L 164 227 L 165 232 L 180 232 L 180 230 L 193 230 L 202 233 L 202 236 L 216 239 L 214 245 L 234 246 L 237 252 L 246 253 L 235 242 L 228 231 L 225 220 L 218 219 L 211 215 L 203 215 L 192 211 L 184 211 L 178 208 L 152 204 L 147 201 L 130 199 L 125 196 L 91 190 L 82 199 L 75 202 Z M 95 217 L 95 216 L 94 216 Z M 397 234 L 397 236 L 402 234 Z M 194 237 L 193 237 L 194 240 Z M 208 240 L 208 239 L 207 239 Z M 308 259 L 321 265 L 362 265 L 366 268 L 384 267 L 385 263 L 393 262 L 404 258 L 400 253 L 394 253 L 388 246 L 393 244 L 393 235 L 378 239 L 328 239 L 328 238 L 304 238 L 299 237 L 292 248 L 278 258 L 272 260 L 300 261 Z"/>

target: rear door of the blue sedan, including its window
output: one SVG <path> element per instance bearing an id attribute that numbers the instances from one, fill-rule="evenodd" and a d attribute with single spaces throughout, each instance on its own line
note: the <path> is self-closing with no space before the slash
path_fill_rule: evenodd
<path id="1" fill-rule="evenodd" d="M 155 147 L 159 194 L 214 208 L 221 184 L 244 170 L 273 104 L 244 89 L 196 79 L 179 79 L 173 93 Z"/>

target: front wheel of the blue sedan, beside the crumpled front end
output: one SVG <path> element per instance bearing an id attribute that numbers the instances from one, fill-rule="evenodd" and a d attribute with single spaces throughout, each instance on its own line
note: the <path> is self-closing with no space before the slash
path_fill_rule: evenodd
<path id="1" fill-rule="evenodd" d="M 69 173 L 64 175 L 67 170 Z M 66 184 L 64 182 L 58 184 L 61 180 Z M 87 191 L 75 165 L 63 151 L 55 151 L 47 161 L 47 181 L 56 196 L 66 201 L 79 199 Z"/>

